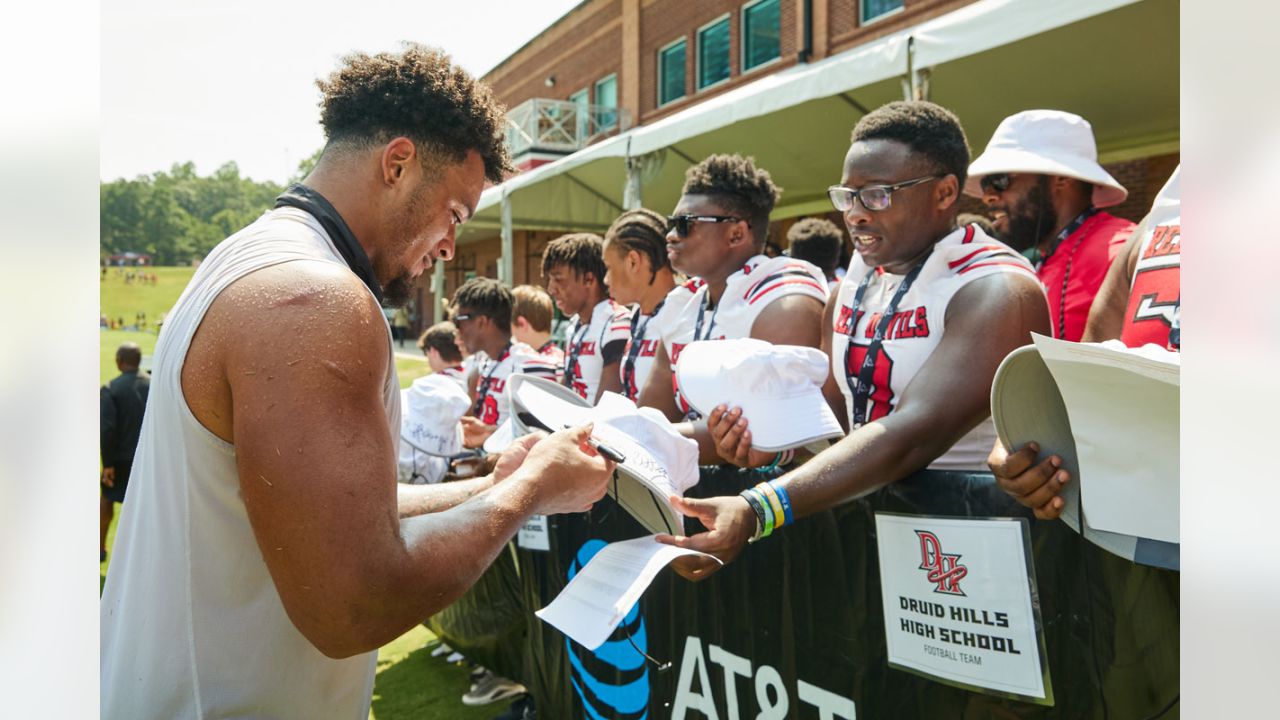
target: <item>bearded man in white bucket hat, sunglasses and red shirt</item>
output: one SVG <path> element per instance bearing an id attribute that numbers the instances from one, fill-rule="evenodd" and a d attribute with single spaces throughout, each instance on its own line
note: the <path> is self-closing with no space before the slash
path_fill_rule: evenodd
<path id="1" fill-rule="evenodd" d="M 1093 127 L 1060 110 L 1001 120 L 969 167 L 996 237 L 1023 252 L 1048 293 L 1053 337 L 1079 341 L 1089 306 L 1133 223 L 1105 213 L 1129 191 L 1098 164 Z"/>

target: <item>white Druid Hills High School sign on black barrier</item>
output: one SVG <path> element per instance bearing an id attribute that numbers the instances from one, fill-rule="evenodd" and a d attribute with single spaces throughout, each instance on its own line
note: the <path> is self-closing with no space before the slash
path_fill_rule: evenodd
<path id="1" fill-rule="evenodd" d="M 1053 705 L 1027 520 L 877 512 L 876 534 L 891 666 Z"/>

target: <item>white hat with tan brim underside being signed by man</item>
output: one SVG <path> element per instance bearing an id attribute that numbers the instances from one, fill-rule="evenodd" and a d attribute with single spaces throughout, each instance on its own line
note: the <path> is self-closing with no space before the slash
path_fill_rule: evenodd
<path id="1" fill-rule="evenodd" d="M 616 392 L 605 392 L 591 407 L 572 389 L 530 375 L 513 375 L 508 387 L 516 418 L 524 414 L 545 429 L 595 423 L 593 437 L 623 456 L 609 495 L 646 530 L 684 534 L 684 518 L 667 497 L 684 496 L 698 484 L 698 443 L 681 436 L 662 413 L 636 407 Z"/>

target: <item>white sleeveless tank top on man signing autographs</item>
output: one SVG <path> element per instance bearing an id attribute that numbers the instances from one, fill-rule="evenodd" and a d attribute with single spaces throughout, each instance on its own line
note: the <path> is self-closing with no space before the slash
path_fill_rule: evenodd
<path id="1" fill-rule="evenodd" d="M 165 319 L 101 600 L 105 719 L 369 717 L 376 652 L 332 660 L 289 621 L 239 495 L 236 448 L 182 395 L 187 348 L 214 299 L 293 260 L 347 266 L 310 214 L 268 211 L 210 252 Z M 390 351 L 387 378 L 388 428 L 398 429 Z"/>

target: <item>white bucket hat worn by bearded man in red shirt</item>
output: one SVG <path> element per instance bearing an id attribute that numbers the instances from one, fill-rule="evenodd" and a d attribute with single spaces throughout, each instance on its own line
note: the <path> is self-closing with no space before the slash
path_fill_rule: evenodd
<path id="1" fill-rule="evenodd" d="M 1088 120 L 1061 110 L 1024 110 L 1000 122 L 987 150 L 969 165 L 965 195 L 982 197 L 982 178 L 997 173 L 1062 176 L 1093 183 L 1093 206 L 1124 202 L 1129 191 L 1098 164 Z"/>

